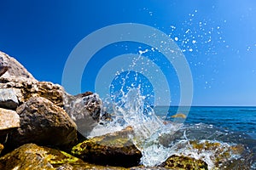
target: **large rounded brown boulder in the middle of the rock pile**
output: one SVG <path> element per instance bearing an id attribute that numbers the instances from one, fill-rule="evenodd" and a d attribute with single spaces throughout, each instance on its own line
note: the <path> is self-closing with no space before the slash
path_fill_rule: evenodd
<path id="1" fill-rule="evenodd" d="M 35 143 L 68 149 L 77 140 L 75 123 L 48 99 L 32 97 L 17 108 L 17 113 L 20 127 L 9 133 L 11 148 Z"/>

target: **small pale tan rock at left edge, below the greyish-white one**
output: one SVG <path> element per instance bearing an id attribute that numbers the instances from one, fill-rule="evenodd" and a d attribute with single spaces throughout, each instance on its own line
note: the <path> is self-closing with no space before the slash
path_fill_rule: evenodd
<path id="1" fill-rule="evenodd" d="M 20 127 L 20 116 L 16 111 L 0 108 L 0 137 L 16 127 Z"/>

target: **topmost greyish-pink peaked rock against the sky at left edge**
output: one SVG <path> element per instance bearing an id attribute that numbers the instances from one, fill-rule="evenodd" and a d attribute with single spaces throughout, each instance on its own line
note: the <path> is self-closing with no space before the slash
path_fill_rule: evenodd
<path id="1" fill-rule="evenodd" d="M 25 77 L 36 81 L 32 74 L 26 71 L 26 68 L 21 65 L 15 58 L 10 57 L 8 54 L 4 54 L 1 51 L 0 73 L 2 74 L 2 77 Z"/>

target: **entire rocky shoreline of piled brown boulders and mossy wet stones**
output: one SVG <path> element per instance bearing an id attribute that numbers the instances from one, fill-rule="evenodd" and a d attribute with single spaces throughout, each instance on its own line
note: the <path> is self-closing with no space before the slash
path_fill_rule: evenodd
<path id="1" fill-rule="evenodd" d="M 142 153 L 129 138 L 132 127 L 84 138 L 106 120 L 101 106 L 97 94 L 67 94 L 60 85 L 36 80 L 16 59 L 0 52 L 0 169 L 207 169 L 206 162 L 189 156 L 171 156 L 159 167 L 141 166 Z M 192 146 L 215 150 L 219 145 Z M 228 159 L 230 150 L 245 149 L 225 148 L 216 163 Z"/>

